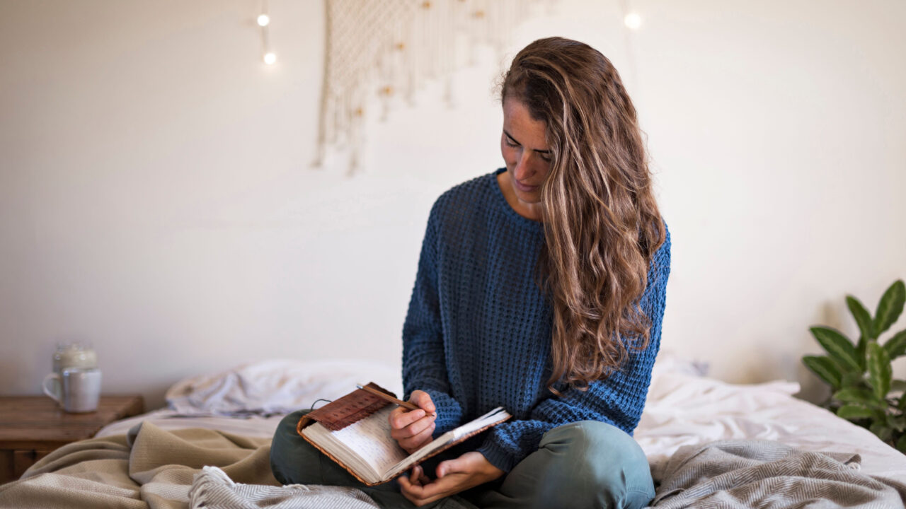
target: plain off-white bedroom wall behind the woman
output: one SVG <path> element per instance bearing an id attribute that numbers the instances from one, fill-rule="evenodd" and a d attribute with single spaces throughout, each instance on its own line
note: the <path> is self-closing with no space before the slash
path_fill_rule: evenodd
<path id="1" fill-rule="evenodd" d="M 855 331 L 906 276 L 906 5 L 560 0 L 523 25 L 622 71 L 673 239 L 664 349 L 798 380 L 809 325 Z M 159 406 L 249 360 L 394 365 L 429 206 L 502 165 L 496 55 L 371 120 L 366 171 L 310 168 L 323 2 L 0 3 L 0 393 L 92 341 L 108 392 Z M 631 46 L 627 46 L 627 41 Z M 897 330 L 903 327 L 903 321 Z M 898 373 L 903 376 L 903 365 Z"/>

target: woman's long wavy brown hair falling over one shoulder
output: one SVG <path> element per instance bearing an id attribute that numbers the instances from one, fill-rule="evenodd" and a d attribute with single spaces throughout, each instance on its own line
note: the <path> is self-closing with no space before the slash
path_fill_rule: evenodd
<path id="1" fill-rule="evenodd" d="M 552 153 L 541 190 L 540 284 L 554 308 L 554 384 L 586 389 L 644 350 L 651 320 L 639 305 L 666 228 L 635 108 L 620 75 L 591 46 L 540 39 L 516 54 L 501 101 L 521 101 L 546 126 Z"/>

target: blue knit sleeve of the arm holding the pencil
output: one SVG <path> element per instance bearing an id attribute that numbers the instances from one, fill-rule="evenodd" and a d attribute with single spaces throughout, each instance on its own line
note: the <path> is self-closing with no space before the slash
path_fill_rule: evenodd
<path id="1" fill-rule="evenodd" d="M 438 296 L 439 205 L 431 209 L 421 245 L 419 269 L 409 312 L 402 329 L 402 381 L 409 399 L 415 390 L 429 393 L 437 408 L 434 435 L 453 429 L 462 419 L 462 408 L 450 396 Z"/>

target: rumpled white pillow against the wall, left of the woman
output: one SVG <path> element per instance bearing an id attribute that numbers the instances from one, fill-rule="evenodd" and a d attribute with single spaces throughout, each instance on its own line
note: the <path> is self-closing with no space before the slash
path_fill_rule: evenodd
<path id="1" fill-rule="evenodd" d="M 263 360 L 183 379 L 167 391 L 184 415 L 285 414 L 337 399 L 373 381 L 401 397 L 400 369 L 373 360 Z M 318 402 L 317 407 L 324 402 Z"/>

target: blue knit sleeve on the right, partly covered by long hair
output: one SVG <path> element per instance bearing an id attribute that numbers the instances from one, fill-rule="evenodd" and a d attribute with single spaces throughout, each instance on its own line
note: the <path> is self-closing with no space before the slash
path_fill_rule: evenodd
<path id="1" fill-rule="evenodd" d="M 608 379 L 595 381 L 584 391 L 566 389 L 561 397 L 552 394 L 539 402 L 528 418 L 492 427 L 484 444 L 478 448 L 487 461 L 509 472 L 525 456 L 537 450 L 547 431 L 571 422 L 596 420 L 632 434 L 645 406 L 651 367 L 660 349 L 660 326 L 670 276 L 670 232 L 652 265 L 648 287 L 640 302 L 642 311 L 651 319 L 648 347 L 642 351 L 627 349 L 626 364 Z"/>

